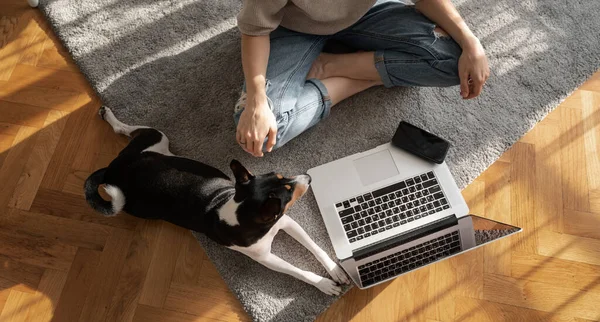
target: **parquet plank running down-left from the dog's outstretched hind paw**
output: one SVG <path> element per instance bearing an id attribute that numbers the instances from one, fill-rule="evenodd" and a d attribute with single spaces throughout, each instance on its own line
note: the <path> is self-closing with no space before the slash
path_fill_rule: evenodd
<path id="1" fill-rule="evenodd" d="M 69 115 L 46 175 L 42 180 L 42 188 L 62 190 L 65 178 L 71 171 L 73 159 L 81 146 L 87 124 L 97 115 L 98 104 L 98 102 L 92 101 Z"/>

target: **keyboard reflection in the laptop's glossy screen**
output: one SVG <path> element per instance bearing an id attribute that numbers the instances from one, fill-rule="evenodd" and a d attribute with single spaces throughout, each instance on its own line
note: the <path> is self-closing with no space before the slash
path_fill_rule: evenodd
<path id="1" fill-rule="evenodd" d="M 363 287 L 381 282 L 462 250 L 458 231 L 358 266 Z"/>

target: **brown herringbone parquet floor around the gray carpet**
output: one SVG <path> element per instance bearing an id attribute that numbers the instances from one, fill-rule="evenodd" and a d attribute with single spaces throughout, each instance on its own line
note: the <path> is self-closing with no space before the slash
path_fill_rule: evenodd
<path id="1" fill-rule="evenodd" d="M 83 180 L 126 144 L 24 0 L 0 5 L 0 321 L 249 320 L 184 229 L 105 219 Z M 600 73 L 463 192 L 523 232 L 366 291 L 321 321 L 600 319 Z"/>

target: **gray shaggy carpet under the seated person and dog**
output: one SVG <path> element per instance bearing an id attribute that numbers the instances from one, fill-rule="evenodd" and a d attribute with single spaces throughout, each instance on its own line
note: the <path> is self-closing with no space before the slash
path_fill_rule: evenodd
<path id="1" fill-rule="evenodd" d="M 448 164 L 466 186 L 600 67 L 600 1 L 460 0 L 489 54 L 483 95 L 459 89 L 372 89 L 263 159 L 234 142 L 242 83 L 238 0 L 42 0 L 41 9 L 104 103 L 126 123 L 163 130 L 177 154 L 228 172 L 237 158 L 256 173 L 288 175 L 387 142 L 404 119 L 449 139 Z M 111 138 L 107 138 L 111 139 Z M 289 215 L 333 255 L 308 193 Z M 266 270 L 199 236 L 221 275 L 257 321 L 312 320 L 336 298 Z M 273 251 L 324 274 L 280 234 Z"/>

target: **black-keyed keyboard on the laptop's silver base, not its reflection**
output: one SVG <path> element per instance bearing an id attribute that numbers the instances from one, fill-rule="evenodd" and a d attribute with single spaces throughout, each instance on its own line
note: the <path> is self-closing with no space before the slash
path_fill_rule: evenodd
<path id="1" fill-rule="evenodd" d="M 433 171 L 335 205 L 350 243 L 450 208 Z"/>

